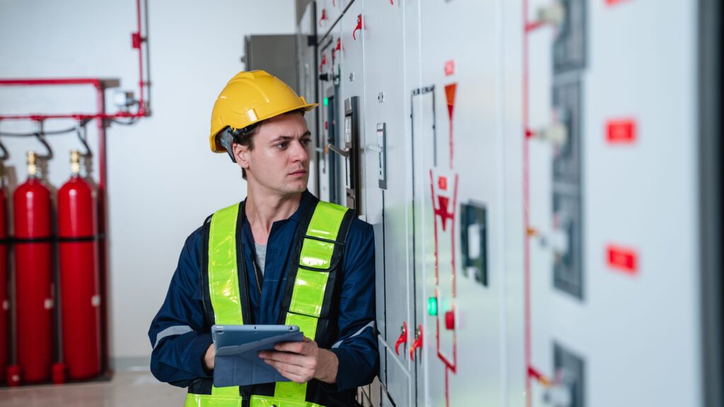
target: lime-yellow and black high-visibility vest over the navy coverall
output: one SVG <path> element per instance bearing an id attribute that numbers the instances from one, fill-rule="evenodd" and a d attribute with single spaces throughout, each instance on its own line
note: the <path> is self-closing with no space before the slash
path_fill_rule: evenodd
<path id="1" fill-rule="evenodd" d="M 308 206 L 300 220 L 279 323 L 298 325 L 306 337 L 319 341 L 327 330 L 338 289 L 337 270 L 353 211 L 324 201 Z M 251 322 L 241 245 L 243 214 L 242 202 L 216 211 L 204 222 L 201 277 L 208 288 L 203 302 L 209 326 Z M 185 407 L 323 407 L 320 402 L 325 398 L 320 393 L 316 381 L 214 387 L 211 379 L 200 379 L 189 386 Z"/>

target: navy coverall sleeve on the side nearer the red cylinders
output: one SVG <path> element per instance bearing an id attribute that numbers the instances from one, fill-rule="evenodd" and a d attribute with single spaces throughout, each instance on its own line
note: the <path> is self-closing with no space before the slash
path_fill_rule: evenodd
<path id="1" fill-rule="evenodd" d="M 186 240 L 166 299 L 148 330 L 153 376 L 179 387 L 211 377 L 203 367 L 212 340 L 204 327 L 200 257 L 201 229 Z"/>

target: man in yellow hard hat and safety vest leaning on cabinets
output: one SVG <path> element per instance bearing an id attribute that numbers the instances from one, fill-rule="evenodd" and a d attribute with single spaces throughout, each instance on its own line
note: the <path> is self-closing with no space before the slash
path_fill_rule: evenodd
<path id="1" fill-rule="evenodd" d="M 148 331 L 151 372 L 188 387 L 186 406 L 353 406 L 377 372 L 374 235 L 306 190 L 314 107 L 264 71 L 214 104 L 211 150 L 241 167 L 247 198 L 188 237 Z M 259 353 L 291 382 L 213 387 L 212 324 L 298 325 L 303 342 Z"/>

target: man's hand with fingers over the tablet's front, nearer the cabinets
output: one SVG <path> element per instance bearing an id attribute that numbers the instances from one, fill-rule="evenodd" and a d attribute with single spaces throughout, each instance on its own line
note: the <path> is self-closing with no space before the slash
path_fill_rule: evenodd
<path id="1" fill-rule="evenodd" d="M 274 351 L 261 351 L 259 357 L 287 379 L 306 383 L 318 379 L 326 383 L 337 382 L 337 355 L 320 349 L 316 342 L 304 337 L 302 342 L 282 342 L 274 345 Z"/>

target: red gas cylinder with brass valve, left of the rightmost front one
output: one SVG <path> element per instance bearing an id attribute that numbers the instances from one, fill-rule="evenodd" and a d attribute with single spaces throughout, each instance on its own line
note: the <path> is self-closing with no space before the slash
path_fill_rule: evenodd
<path id="1" fill-rule="evenodd" d="M 24 382 L 50 379 L 53 349 L 51 193 L 28 152 L 28 180 L 13 194 L 17 364 Z"/>

